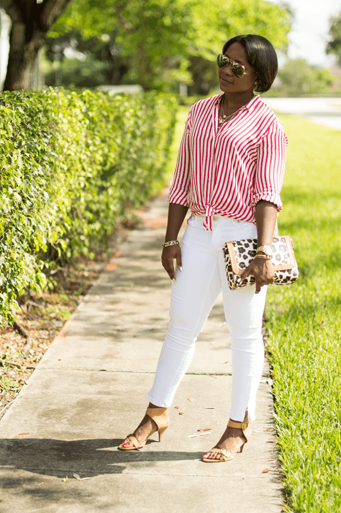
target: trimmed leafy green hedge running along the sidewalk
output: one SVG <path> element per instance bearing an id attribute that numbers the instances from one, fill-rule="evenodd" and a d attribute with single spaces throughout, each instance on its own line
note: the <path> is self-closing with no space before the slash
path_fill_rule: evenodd
<path id="1" fill-rule="evenodd" d="M 177 104 L 160 93 L 0 95 L 0 324 L 51 253 L 107 238 L 163 184 Z"/>

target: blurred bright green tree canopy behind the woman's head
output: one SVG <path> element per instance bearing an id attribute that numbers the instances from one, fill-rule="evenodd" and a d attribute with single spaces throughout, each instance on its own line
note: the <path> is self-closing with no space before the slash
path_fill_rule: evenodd
<path id="1" fill-rule="evenodd" d="M 73 45 L 105 61 L 107 83 L 209 87 L 215 57 L 230 37 L 257 33 L 286 49 L 289 30 L 290 12 L 264 0 L 73 0 L 48 34 L 48 56 Z"/>

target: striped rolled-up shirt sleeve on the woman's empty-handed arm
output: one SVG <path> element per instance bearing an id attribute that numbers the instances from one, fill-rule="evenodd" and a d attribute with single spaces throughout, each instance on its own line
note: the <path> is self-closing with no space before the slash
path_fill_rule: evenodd
<path id="1" fill-rule="evenodd" d="M 190 128 L 191 111 L 188 113 L 184 135 L 177 155 L 173 183 L 169 191 L 168 202 L 188 206 L 187 196 L 190 190 L 191 175 L 191 149 L 190 149 Z"/>

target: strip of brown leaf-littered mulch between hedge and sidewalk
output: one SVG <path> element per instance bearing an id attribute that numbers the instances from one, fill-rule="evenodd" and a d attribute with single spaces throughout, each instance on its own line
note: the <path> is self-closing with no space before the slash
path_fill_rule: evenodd
<path id="1" fill-rule="evenodd" d="M 40 295 L 28 292 L 21 298 L 21 309 L 15 312 L 14 325 L 0 327 L 0 418 L 98 278 L 108 257 L 105 252 L 94 261 L 83 258 L 59 268 L 53 275 L 53 290 Z"/>

